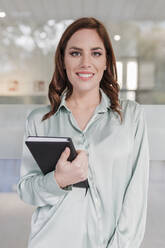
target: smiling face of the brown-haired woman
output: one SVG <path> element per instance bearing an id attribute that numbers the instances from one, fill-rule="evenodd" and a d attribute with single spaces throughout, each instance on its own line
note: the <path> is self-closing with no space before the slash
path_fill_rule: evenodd
<path id="1" fill-rule="evenodd" d="M 81 29 L 69 39 L 64 55 L 67 77 L 73 91 L 99 89 L 106 69 L 106 50 L 94 29 Z"/>

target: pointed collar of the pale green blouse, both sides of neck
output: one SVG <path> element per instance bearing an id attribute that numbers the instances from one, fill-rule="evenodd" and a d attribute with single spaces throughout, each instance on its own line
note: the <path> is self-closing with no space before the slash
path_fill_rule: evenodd
<path id="1" fill-rule="evenodd" d="M 107 112 L 107 109 L 110 109 L 110 99 L 109 97 L 104 93 L 103 89 L 100 88 L 100 93 L 101 93 L 101 102 L 100 104 L 96 107 L 95 109 L 95 113 L 104 113 Z M 61 94 L 61 103 L 58 107 L 58 110 L 56 111 L 56 113 L 62 108 L 65 107 L 65 109 L 69 112 L 70 109 L 67 107 L 66 105 L 66 90 L 63 91 L 63 93 Z"/>

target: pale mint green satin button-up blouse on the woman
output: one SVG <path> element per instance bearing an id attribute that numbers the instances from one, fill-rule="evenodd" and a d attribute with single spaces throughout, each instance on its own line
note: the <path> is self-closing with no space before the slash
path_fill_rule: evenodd
<path id="1" fill-rule="evenodd" d="M 31 219 L 29 248 L 138 248 L 146 224 L 149 152 L 143 108 L 120 100 L 123 122 L 101 102 L 82 131 L 61 96 L 57 112 L 45 121 L 50 106 L 27 117 L 27 136 L 69 136 L 76 149 L 87 151 L 90 188 L 62 189 L 54 172 L 45 176 L 23 144 L 19 197 L 36 206 Z"/>

